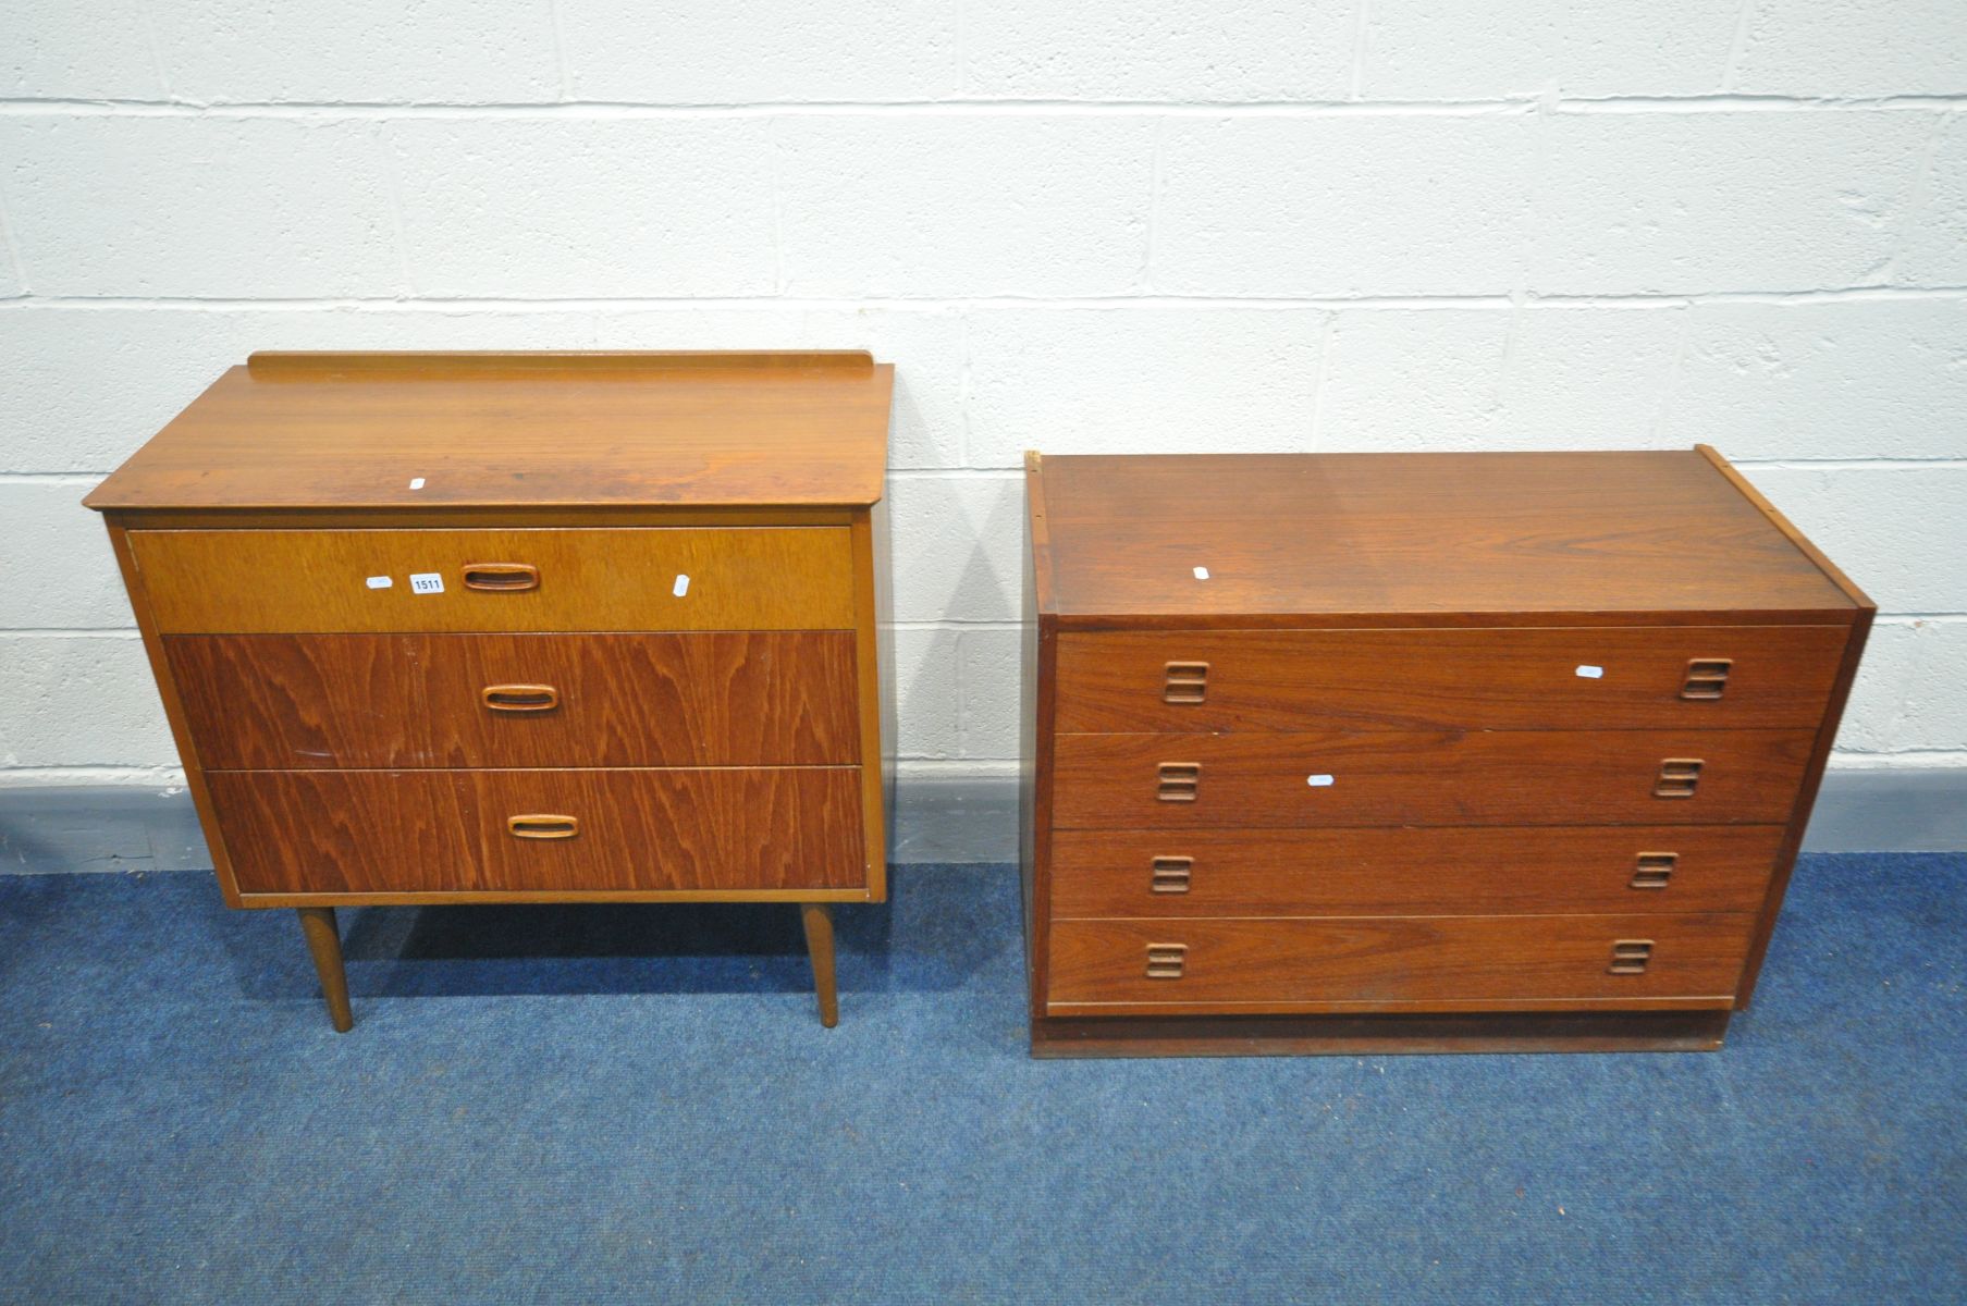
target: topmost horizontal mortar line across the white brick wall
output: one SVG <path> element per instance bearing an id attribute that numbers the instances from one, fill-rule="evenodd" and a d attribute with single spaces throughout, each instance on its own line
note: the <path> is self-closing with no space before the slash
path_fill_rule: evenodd
<path id="1" fill-rule="evenodd" d="M 1170 118 L 1351 118 L 1351 116 L 1489 116 L 1532 114 L 1538 94 L 1469 100 L 749 100 L 728 104 L 635 104 L 620 100 L 525 100 L 498 104 L 401 104 L 384 100 L 189 102 L 0 98 L 6 116 L 65 118 L 985 118 L 985 116 L 1147 116 Z M 1560 96 L 1560 114 L 1617 112 L 1861 112 L 1957 110 L 1967 94 L 1880 96 Z"/>

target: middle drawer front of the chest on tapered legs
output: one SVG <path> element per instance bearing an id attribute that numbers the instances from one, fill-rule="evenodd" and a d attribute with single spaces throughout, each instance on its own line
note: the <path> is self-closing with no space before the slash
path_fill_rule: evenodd
<path id="1" fill-rule="evenodd" d="M 846 765 L 854 635 L 165 635 L 207 769 Z"/>

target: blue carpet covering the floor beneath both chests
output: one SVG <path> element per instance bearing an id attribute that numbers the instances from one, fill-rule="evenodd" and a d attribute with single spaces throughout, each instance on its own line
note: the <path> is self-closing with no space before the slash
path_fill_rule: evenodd
<path id="1" fill-rule="evenodd" d="M 1692 1056 L 1033 1062 L 1015 875 L 291 913 L 0 877 L 0 1298 L 1949 1302 L 1967 856 L 1806 858 Z"/>

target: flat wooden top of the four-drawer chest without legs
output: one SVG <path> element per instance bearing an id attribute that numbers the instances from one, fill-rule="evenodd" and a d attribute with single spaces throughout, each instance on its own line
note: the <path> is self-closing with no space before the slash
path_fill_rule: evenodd
<path id="1" fill-rule="evenodd" d="M 1029 456 L 1062 625 L 1849 623 L 1713 450 Z"/>

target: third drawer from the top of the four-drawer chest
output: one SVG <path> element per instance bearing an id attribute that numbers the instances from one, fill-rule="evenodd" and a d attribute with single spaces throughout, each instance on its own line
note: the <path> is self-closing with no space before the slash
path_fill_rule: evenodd
<path id="1" fill-rule="evenodd" d="M 1760 911 L 1782 826 L 1058 830 L 1052 915 Z"/>

